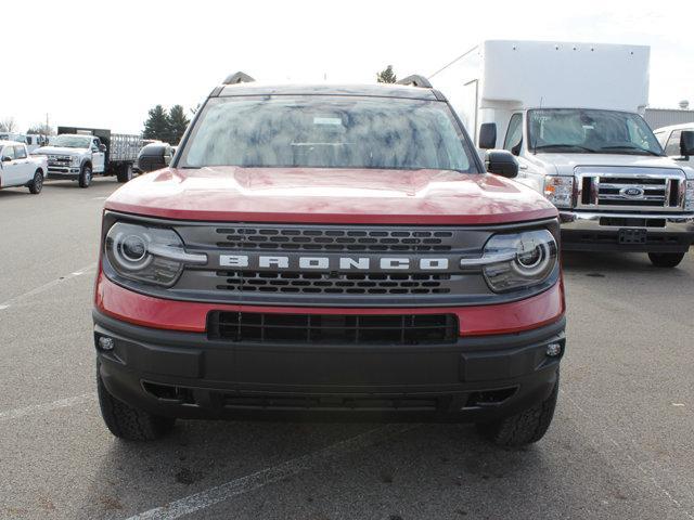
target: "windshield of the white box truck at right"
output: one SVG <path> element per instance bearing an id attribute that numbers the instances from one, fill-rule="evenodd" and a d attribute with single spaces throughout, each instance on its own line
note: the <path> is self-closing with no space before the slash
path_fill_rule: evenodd
<path id="1" fill-rule="evenodd" d="M 529 148 L 536 153 L 664 155 L 637 114 L 579 108 L 528 112 Z"/>

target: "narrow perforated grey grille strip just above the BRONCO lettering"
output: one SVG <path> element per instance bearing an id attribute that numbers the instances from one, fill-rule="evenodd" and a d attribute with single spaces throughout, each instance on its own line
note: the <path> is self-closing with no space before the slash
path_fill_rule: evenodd
<path id="1" fill-rule="evenodd" d="M 239 226 L 217 229 L 224 249 L 290 251 L 450 251 L 451 231 Z"/>

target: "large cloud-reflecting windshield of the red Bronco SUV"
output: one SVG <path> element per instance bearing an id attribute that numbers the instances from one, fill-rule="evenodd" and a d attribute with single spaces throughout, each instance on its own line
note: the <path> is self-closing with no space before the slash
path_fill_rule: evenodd
<path id="1" fill-rule="evenodd" d="M 213 99 L 177 166 L 477 172 L 446 103 L 319 95 Z"/>

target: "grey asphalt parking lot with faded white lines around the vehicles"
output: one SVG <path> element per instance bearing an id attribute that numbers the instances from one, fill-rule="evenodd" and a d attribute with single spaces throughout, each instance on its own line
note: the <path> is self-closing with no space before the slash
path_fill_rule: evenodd
<path id="1" fill-rule="evenodd" d="M 0 518 L 694 519 L 694 259 L 564 259 L 557 414 L 504 451 L 465 425 L 179 421 L 114 439 L 91 289 L 117 188 L 0 191 Z"/>

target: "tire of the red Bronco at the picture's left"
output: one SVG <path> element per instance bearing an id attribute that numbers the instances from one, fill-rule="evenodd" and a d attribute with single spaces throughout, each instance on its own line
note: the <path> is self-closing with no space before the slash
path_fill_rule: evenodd
<path id="1" fill-rule="evenodd" d="M 99 368 L 97 390 L 101 416 L 115 437 L 128 441 L 154 441 L 174 428 L 176 419 L 150 414 L 114 398 L 101 380 Z"/>

